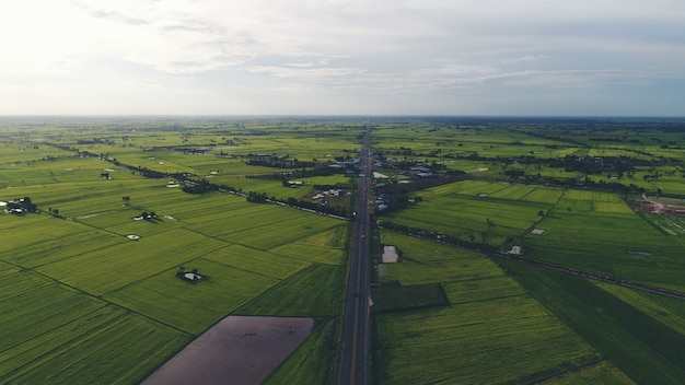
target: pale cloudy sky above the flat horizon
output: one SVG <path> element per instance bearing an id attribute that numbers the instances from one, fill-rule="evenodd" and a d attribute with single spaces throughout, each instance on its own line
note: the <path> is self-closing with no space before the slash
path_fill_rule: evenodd
<path id="1" fill-rule="evenodd" d="M 0 115 L 685 116 L 682 0 L 25 0 Z"/>

